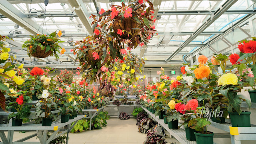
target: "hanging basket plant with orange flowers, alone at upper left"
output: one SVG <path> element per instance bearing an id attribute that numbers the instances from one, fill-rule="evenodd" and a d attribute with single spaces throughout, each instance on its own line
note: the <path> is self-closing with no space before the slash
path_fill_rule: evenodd
<path id="1" fill-rule="evenodd" d="M 61 30 L 58 32 L 59 38 L 61 37 L 62 33 Z M 61 48 L 59 46 L 59 42 L 61 41 L 56 36 L 56 31 L 48 35 L 30 35 L 30 39 L 25 41 L 22 47 L 27 48 L 27 55 L 34 56 L 36 58 L 46 58 L 49 55 L 55 55 L 56 59 L 59 59 L 59 56 L 57 54 L 60 53 L 61 55 L 66 52 L 64 48 Z M 59 49 L 62 49 L 61 52 Z"/>

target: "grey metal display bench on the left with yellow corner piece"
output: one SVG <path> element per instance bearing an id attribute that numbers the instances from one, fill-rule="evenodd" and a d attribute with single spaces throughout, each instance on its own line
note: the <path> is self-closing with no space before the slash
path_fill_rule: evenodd
<path id="1" fill-rule="evenodd" d="M 49 144 L 53 139 L 67 133 L 66 144 L 69 143 L 69 132 L 73 129 L 78 120 L 84 118 L 85 115 L 78 115 L 74 119 L 66 123 L 61 123 L 61 120 L 53 121 L 52 126 L 42 126 L 42 124 L 22 124 L 22 126 L 12 126 L 12 124 L 0 124 L 0 137 L 3 142 L 0 144 Z M 72 123 L 75 122 L 73 125 Z M 72 125 L 72 126 L 71 126 Z M 13 141 L 14 131 L 36 131 L 36 133 L 29 135 L 25 138 Z M 5 132 L 8 132 L 6 137 Z M 49 139 L 47 133 L 53 132 Z M 58 132 L 61 132 L 58 134 Z M 27 139 L 38 136 L 40 142 L 24 142 Z"/>

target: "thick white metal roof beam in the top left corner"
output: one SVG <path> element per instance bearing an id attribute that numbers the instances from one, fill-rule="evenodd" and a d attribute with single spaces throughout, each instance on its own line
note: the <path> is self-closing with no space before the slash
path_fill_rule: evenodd
<path id="1" fill-rule="evenodd" d="M 28 18 L 7 0 L 0 0 L 0 13 L 34 35 L 37 34 L 37 32 L 43 32 L 44 34 L 47 33 L 46 30 L 38 26 L 35 21 Z"/>

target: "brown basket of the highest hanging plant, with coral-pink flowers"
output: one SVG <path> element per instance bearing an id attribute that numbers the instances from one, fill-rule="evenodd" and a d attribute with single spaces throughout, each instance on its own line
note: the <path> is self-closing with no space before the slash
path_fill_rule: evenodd
<path id="1" fill-rule="evenodd" d="M 138 31 L 137 29 L 136 30 L 133 29 L 133 28 L 136 28 L 136 27 L 138 27 L 138 23 L 132 17 L 124 18 L 124 19 L 118 19 L 118 20 L 115 20 L 114 23 L 113 23 L 114 32 L 116 33 L 117 36 L 119 36 L 119 38 L 122 38 L 122 39 L 131 39 L 133 33 L 136 33 Z M 124 34 L 119 35 L 119 34 L 117 34 L 118 29 L 125 30 L 127 32 L 131 31 L 132 35 L 128 36 L 127 32 L 124 32 Z"/>

